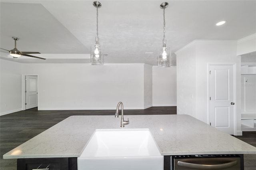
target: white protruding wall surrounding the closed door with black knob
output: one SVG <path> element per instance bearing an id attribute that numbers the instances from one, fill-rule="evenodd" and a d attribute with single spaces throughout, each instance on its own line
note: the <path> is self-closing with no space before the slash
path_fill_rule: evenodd
<path id="1" fill-rule="evenodd" d="M 195 40 L 176 52 L 177 114 L 188 114 L 208 123 L 208 64 L 235 64 L 236 122 L 237 130 L 241 130 L 241 57 L 236 56 L 236 45 L 236 41 Z"/>

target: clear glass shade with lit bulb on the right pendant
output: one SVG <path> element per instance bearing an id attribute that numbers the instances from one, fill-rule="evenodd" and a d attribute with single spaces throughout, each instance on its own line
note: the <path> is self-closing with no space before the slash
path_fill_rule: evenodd
<path id="1" fill-rule="evenodd" d="M 171 51 L 168 47 L 161 47 L 158 53 L 158 67 L 170 67 Z"/>

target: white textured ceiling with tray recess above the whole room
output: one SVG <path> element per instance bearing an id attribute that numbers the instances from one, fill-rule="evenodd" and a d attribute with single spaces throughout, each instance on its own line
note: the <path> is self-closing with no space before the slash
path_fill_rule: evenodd
<path id="1" fill-rule="evenodd" d="M 1 0 L 0 47 L 39 51 L 46 60 L 4 59 L 23 63 L 89 63 L 96 36 L 93 0 Z M 159 0 L 101 0 L 99 37 L 105 63 L 157 64 L 163 37 Z M 238 40 L 256 32 L 254 0 L 167 0 L 166 40 L 174 52 L 193 40 Z M 223 26 L 216 22 L 226 20 Z M 153 52 L 146 54 L 146 52 Z M 74 54 L 74 55 L 72 55 Z M 83 55 L 84 58 L 82 57 Z"/>

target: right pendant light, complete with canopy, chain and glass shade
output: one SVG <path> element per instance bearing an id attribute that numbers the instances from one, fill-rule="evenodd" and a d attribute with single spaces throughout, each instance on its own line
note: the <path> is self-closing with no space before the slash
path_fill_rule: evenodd
<path id="1" fill-rule="evenodd" d="M 164 38 L 163 38 L 163 45 L 159 51 L 158 55 L 158 67 L 170 67 L 171 65 L 171 53 L 170 48 L 166 47 L 166 39 L 165 39 L 165 8 L 168 7 L 168 2 L 163 2 L 160 5 L 161 9 L 164 9 L 163 16 L 164 16 Z"/>

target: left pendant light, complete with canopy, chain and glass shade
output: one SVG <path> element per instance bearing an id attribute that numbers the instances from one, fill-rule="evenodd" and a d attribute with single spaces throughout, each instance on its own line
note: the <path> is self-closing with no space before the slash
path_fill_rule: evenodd
<path id="1" fill-rule="evenodd" d="M 98 37 L 98 8 L 101 7 L 101 3 L 98 1 L 93 2 L 93 6 L 96 8 L 96 38 L 95 44 L 91 45 L 91 64 L 92 65 L 103 65 L 104 54 L 102 53 L 102 47 L 100 46 L 100 38 Z"/>

